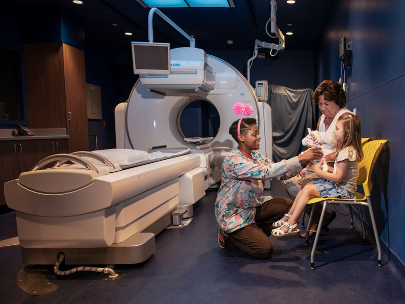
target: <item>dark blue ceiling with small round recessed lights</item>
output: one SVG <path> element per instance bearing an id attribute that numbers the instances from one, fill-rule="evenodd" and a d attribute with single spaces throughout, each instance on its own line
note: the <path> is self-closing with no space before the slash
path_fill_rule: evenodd
<path id="1" fill-rule="evenodd" d="M 17 5 L 55 5 L 71 10 L 85 21 L 86 38 L 111 49 L 128 50 L 131 41 L 148 41 L 149 8 L 136 0 L 12 0 Z M 196 47 L 204 50 L 251 50 L 255 39 L 269 43 L 265 25 L 270 17 L 269 0 L 233 0 L 234 8 L 161 8 L 159 9 L 189 35 Z M 277 26 L 286 37 L 286 50 L 313 50 L 331 0 L 296 0 L 293 5 L 277 0 Z M 289 26 L 288 24 L 292 24 Z M 117 24 L 113 26 L 112 24 Z M 126 36 L 125 32 L 132 32 Z M 189 46 L 188 41 L 158 15 L 153 18 L 155 42 L 169 42 L 172 48 Z M 270 31 L 270 30 L 269 30 Z M 291 31 L 293 35 L 287 36 Z"/>

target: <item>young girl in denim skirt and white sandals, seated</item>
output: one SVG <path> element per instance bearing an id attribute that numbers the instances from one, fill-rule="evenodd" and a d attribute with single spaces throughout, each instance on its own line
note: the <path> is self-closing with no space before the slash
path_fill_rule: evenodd
<path id="1" fill-rule="evenodd" d="M 328 172 L 322 171 L 320 165 L 312 163 L 311 170 L 322 178 L 308 179 L 303 182 L 290 214 L 274 223 L 278 226 L 271 234 L 275 237 L 296 235 L 300 232 L 297 228 L 299 217 L 305 210 L 309 199 L 317 198 L 342 198 L 353 199 L 357 189 L 358 162 L 363 158 L 361 148 L 360 119 L 355 115 L 342 115 L 336 122 L 334 137 L 338 142 L 339 150 L 336 152 L 334 168 Z"/>

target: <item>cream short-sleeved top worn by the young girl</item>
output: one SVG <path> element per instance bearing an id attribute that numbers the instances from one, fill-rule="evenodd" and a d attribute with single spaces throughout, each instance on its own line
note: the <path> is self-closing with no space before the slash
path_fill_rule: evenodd
<path id="1" fill-rule="evenodd" d="M 357 178 L 359 174 L 359 166 L 357 162 L 357 153 L 352 146 L 345 147 L 339 151 L 338 156 L 336 157 L 335 165 L 333 167 L 333 173 L 336 174 L 336 169 L 338 162 L 349 160 L 347 165 L 346 174 L 343 177 L 343 180 L 339 183 L 339 186 L 345 188 L 348 192 L 355 193 L 357 190 Z"/>

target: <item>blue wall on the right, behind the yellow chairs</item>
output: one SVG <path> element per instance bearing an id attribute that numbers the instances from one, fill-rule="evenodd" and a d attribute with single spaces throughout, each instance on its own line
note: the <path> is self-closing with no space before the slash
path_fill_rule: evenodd
<path id="1" fill-rule="evenodd" d="M 373 172 L 372 204 L 381 240 L 402 261 L 405 242 L 405 2 L 334 1 L 315 52 L 315 80 L 340 77 L 339 41 L 353 42 L 353 64 L 348 70 L 348 106 L 361 119 L 362 137 L 386 139 Z M 365 219 L 370 223 L 369 215 Z"/>

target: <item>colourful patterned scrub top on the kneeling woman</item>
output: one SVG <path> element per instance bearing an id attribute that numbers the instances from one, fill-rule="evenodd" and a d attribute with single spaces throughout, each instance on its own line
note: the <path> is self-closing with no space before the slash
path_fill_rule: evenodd
<path id="1" fill-rule="evenodd" d="M 286 179 L 302 170 L 298 157 L 273 163 L 258 151 L 252 151 L 252 156 L 253 159 L 245 157 L 236 147 L 222 164 L 215 216 L 226 232 L 254 223 L 256 207 L 272 199 L 261 196 L 265 179 Z"/>

